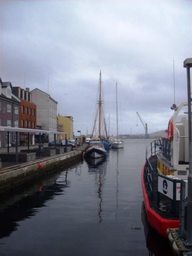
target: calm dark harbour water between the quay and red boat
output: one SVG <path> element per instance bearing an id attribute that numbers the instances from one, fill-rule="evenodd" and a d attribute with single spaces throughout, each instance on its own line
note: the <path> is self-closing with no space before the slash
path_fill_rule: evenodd
<path id="1" fill-rule="evenodd" d="M 149 228 L 141 167 L 149 139 L 125 140 L 0 201 L 0 255 L 172 255 Z"/>

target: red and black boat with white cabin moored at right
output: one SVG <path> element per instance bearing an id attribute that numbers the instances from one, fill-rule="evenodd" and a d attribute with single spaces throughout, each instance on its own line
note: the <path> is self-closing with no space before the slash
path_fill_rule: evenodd
<path id="1" fill-rule="evenodd" d="M 188 103 L 174 110 L 161 140 L 152 141 L 146 151 L 141 183 L 147 219 L 157 232 L 167 237 L 168 228 L 179 228 L 180 185 L 189 174 Z"/>

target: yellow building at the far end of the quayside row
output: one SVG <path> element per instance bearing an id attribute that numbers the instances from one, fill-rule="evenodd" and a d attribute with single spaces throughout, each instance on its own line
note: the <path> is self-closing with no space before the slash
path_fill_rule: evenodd
<path id="1" fill-rule="evenodd" d="M 67 139 L 71 139 L 74 137 L 73 132 L 73 116 L 57 116 L 58 121 L 58 131 L 59 132 L 67 132 Z M 65 139 L 65 135 L 58 135 L 59 139 Z"/>

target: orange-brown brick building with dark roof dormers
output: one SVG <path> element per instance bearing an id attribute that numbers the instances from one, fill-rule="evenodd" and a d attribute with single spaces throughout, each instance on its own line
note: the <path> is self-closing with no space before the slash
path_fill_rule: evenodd
<path id="1" fill-rule="evenodd" d="M 22 89 L 19 86 L 13 86 L 13 93 L 21 101 L 20 113 L 19 113 L 19 127 L 36 129 L 36 113 L 37 106 L 32 102 L 32 95 L 29 92 L 29 88 L 26 90 Z M 20 132 L 20 145 L 28 145 L 28 140 L 31 145 L 35 143 L 35 133 L 27 134 Z"/>

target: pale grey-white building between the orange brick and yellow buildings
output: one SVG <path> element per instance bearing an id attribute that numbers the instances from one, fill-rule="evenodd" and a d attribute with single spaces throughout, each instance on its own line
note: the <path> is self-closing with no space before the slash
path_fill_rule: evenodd
<path id="1" fill-rule="evenodd" d="M 30 91 L 32 101 L 37 105 L 37 126 L 42 130 L 57 131 L 57 104 L 49 94 L 39 89 Z M 54 140 L 54 135 L 49 134 L 49 141 Z"/>

